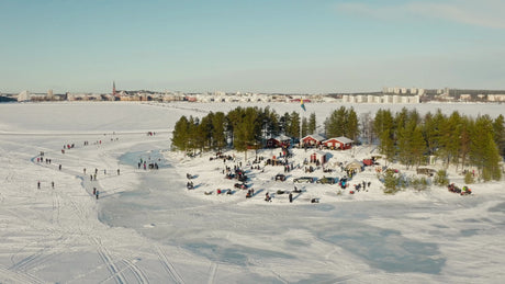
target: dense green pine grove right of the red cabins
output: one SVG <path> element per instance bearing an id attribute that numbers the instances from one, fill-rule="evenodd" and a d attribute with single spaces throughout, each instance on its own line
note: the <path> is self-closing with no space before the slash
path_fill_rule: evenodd
<path id="1" fill-rule="evenodd" d="M 500 115 L 476 118 L 453 112 L 447 116 L 438 110 L 423 117 L 417 111 L 403 109 L 396 114 L 379 110 L 373 133 L 386 161 L 408 167 L 425 163 L 427 156 L 442 159 L 446 168 L 475 167 L 484 181 L 502 178 L 501 161 L 505 155 L 505 122 Z"/>

